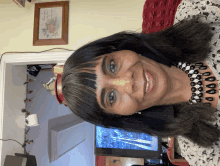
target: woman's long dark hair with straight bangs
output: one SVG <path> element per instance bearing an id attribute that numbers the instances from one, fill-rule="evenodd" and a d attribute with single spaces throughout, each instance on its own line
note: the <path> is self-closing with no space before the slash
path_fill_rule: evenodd
<path id="1" fill-rule="evenodd" d="M 177 103 L 154 106 L 142 110 L 142 114 L 124 116 L 106 113 L 96 100 L 96 74 L 93 70 L 99 56 L 114 51 L 131 50 L 147 56 L 150 52 L 147 43 L 163 55 L 154 60 L 162 63 L 168 59 L 169 67 L 178 62 L 204 61 L 211 52 L 213 33 L 210 25 L 202 22 L 200 17 L 184 19 L 156 33 L 119 32 L 77 49 L 65 62 L 62 75 L 62 91 L 67 106 L 74 114 L 94 125 L 159 137 L 182 135 L 200 146 L 210 147 L 220 136 L 220 131 L 207 123 L 216 120 L 215 108 L 203 103 Z M 167 113 L 172 116 L 161 120 Z"/>

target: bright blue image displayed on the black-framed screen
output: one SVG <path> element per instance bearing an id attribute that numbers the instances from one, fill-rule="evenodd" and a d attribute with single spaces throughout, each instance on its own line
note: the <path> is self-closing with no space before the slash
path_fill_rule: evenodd
<path id="1" fill-rule="evenodd" d="M 96 147 L 158 151 L 158 138 L 144 133 L 96 126 Z"/>

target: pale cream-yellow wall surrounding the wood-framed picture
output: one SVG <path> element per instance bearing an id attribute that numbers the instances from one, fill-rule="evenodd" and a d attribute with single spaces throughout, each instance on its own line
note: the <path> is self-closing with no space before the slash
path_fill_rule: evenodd
<path id="1" fill-rule="evenodd" d="M 74 50 L 87 42 L 119 31 L 141 32 L 144 2 L 70 0 L 69 44 L 33 46 L 34 4 L 26 1 L 26 7 L 20 8 L 12 0 L 0 0 L 0 54 L 8 51 L 43 51 L 55 47 Z"/>

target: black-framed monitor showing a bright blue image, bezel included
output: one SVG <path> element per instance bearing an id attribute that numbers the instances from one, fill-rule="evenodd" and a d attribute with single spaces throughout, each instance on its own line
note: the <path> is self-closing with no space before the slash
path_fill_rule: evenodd
<path id="1" fill-rule="evenodd" d="M 133 158 L 159 158 L 161 139 L 145 133 L 95 126 L 95 154 Z"/>

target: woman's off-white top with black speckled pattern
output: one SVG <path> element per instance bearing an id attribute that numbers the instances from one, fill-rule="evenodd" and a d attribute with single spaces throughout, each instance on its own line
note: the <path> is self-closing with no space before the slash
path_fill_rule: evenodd
<path id="1" fill-rule="evenodd" d="M 216 1 L 216 0 L 215 0 Z M 212 25 L 215 35 L 211 39 L 212 51 L 205 60 L 213 71 L 217 80 L 220 80 L 220 8 L 212 4 L 211 0 L 183 0 L 177 9 L 174 24 L 193 15 L 204 15 L 202 21 Z M 218 81 L 220 87 L 220 81 Z M 217 109 L 220 110 L 220 99 Z M 220 129 L 220 111 L 216 113 L 218 120 L 213 123 Z M 213 143 L 210 148 L 203 148 L 183 136 L 178 136 L 177 141 L 183 156 L 190 166 L 219 166 L 220 165 L 220 140 Z"/>

